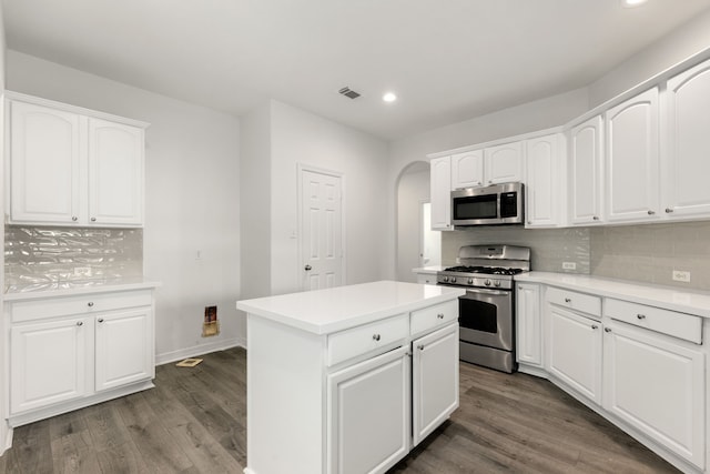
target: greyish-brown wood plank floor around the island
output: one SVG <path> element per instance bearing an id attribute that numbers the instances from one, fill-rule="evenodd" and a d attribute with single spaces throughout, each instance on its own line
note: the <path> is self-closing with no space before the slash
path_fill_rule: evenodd
<path id="1" fill-rule="evenodd" d="M 246 352 L 203 359 L 156 367 L 155 389 L 17 428 L 0 473 L 241 473 Z M 545 380 L 462 363 L 460 399 L 390 474 L 678 472 Z"/>

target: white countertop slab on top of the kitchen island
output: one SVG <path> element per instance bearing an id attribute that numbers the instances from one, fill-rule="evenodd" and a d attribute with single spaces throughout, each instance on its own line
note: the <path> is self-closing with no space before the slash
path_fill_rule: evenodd
<path id="1" fill-rule="evenodd" d="M 379 281 L 236 302 L 246 311 L 315 334 L 329 334 L 465 294 L 464 289 Z"/>

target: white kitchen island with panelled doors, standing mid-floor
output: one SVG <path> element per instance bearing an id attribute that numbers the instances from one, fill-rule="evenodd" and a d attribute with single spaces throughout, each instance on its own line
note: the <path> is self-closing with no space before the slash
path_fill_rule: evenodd
<path id="1" fill-rule="evenodd" d="M 246 474 L 382 473 L 458 407 L 458 296 L 381 281 L 240 301 Z"/>

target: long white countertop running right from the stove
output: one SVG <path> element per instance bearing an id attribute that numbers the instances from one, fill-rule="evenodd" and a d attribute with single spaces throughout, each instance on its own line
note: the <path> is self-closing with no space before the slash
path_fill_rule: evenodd
<path id="1" fill-rule="evenodd" d="M 521 273 L 515 276 L 515 281 L 523 283 L 544 283 L 598 296 L 617 297 L 640 304 L 648 304 L 650 306 L 710 317 L 710 293 L 703 291 L 681 290 L 650 283 L 633 283 L 625 280 L 550 272 Z"/>

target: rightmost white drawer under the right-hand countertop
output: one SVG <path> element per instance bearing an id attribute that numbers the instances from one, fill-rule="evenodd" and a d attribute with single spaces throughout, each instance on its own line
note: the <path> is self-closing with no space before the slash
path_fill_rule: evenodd
<path id="1" fill-rule="evenodd" d="M 628 301 L 607 299 L 605 313 L 611 319 L 673 337 L 702 343 L 702 319 Z"/>

